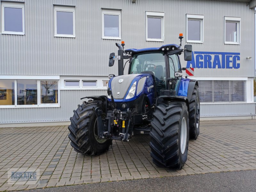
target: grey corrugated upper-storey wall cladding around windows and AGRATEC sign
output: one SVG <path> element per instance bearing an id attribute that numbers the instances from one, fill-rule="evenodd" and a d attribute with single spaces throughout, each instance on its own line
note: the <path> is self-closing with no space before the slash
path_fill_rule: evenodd
<path id="1" fill-rule="evenodd" d="M 76 38 L 54 37 L 53 4 L 76 6 Z M 241 67 L 196 69 L 195 76 L 254 76 L 254 10 L 246 3 L 210 0 L 25 0 L 25 35 L 0 34 L 0 75 L 117 74 L 117 62 L 109 68 L 108 56 L 117 53 L 115 43 L 121 41 L 102 39 L 101 8 L 122 10 L 125 48 L 179 44 L 179 33 L 184 45 L 186 14 L 202 14 L 204 43 L 192 43 L 193 50 L 240 52 Z M 146 41 L 146 11 L 164 12 L 164 42 Z M 224 44 L 224 16 L 241 17 L 240 45 Z M 185 67 L 183 55 L 181 61 Z"/>

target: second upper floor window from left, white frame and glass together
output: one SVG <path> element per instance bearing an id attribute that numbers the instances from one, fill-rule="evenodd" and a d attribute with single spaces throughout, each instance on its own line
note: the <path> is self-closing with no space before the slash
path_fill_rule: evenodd
<path id="1" fill-rule="evenodd" d="M 54 36 L 76 37 L 75 7 L 54 6 Z"/>

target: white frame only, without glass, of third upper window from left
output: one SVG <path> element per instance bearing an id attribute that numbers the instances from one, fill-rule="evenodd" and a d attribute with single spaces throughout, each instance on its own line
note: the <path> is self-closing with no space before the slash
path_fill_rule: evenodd
<path id="1" fill-rule="evenodd" d="M 119 16 L 119 36 L 111 37 L 104 36 L 104 15 L 118 15 Z M 118 39 L 121 40 L 121 9 L 101 9 L 101 33 L 102 39 Z"/>

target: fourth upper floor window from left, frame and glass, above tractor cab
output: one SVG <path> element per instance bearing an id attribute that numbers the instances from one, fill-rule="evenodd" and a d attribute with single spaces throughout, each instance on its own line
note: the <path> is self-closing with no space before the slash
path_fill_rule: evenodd
<path id="1" fill-rule="evenodd" d="M 146 11 L 146 40 L 164 41 L 164 12 Z"/>

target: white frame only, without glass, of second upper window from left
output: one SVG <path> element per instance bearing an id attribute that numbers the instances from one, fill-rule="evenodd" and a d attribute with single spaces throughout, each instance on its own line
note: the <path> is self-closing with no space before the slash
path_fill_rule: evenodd
<path id="1" fill-rule="evenodd" d="M 57 11 L 73 13 L 73 35 L 57 34 Z M 54 5 L 54 37 L 76 37 L 76 7 L 65 5 Z"/>

